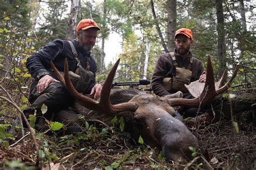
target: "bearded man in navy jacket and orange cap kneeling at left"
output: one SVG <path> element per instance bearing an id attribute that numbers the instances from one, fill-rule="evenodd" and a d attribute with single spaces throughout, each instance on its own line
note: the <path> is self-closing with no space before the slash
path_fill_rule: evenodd
<path id="1" fill-rule="evenodd" d="M 90 94 L 94 98 L 100 96 L 102 84 L 95 81 L 97 65 L 91 57 L 91 49 L 95 45 L 100 28 L 92 19 L 83 19 L 77 25 L 77 39 L 72 41 L 53 40 L 41 51 L 33 54 L 26 61 L 26 67 L 33 77 L 29 102 L 30 107 L 24 109 L 28 117 L 36 111 L 36 129 L 41 131 L 48 128 L 45 120 L 66 123 L 70 132 L 77 131 L 73 126 L 78 116 L 70 107 L 74 100 L 51 69 L 50 61 L 60 71 L 64 71 L 65 59 L 69 63 L 69 73 L 76 83 L 80 93 Z M 42 113 L 41 107 L 46 105 L 47 112 Z M 67 125 L 69 124 L 69 125 Z"/>

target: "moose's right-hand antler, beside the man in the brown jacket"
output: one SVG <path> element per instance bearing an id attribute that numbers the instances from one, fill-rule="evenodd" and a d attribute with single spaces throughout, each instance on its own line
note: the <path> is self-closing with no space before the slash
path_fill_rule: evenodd
<path id="1" fill-rule="evenodd" d="M 231 76 L 230 80 L 228 80 L 228 82 L 223 87 L 219 88 L 219 84 L 221 84 L 224 80 L 224 76 L 225 76 L 225 73 L 224 73 L 220 81 L 215 83 L 215 85 L 218 86 L 217 89 L 215 89 L 214 80 L 213 80 L 212 62 L 211 62 L 210 56 L 208 56 L 206 82 L 204 84 L 203 91 L 201 91 L 201 93 L 200 91 L 198 92 L 200 93 L 200 95 L 196 93 L 197 98 L 193 98 L 193 99 L 186 99 L 186 98 L 169 99 L 169 104 L 172 107 L 174 106 L 198 107 L 199 105 L 204 106 L 210 103 L 215 96 L 223 93 L 225 90 L 227 90 L 231 86 L 232 81 L 234 80 L 234 77 L 237 75 L 237 71 L 238 71 L 238 67 L 235 67 L 233 75 Z"/>

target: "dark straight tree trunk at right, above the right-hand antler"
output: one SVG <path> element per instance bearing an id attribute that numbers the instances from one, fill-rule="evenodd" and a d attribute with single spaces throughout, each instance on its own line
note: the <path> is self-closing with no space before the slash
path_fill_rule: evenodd
<path id="1" fill-rule="evenodd" d="M 216 0 L 217 32 L 218 32 L 218 59 L 219 59 L 219 77 L 226 69 L 226 45 L 223 0 Z"/>

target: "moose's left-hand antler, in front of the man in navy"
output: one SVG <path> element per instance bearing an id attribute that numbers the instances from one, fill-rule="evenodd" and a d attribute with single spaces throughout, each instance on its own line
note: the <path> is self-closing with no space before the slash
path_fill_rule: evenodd
<path id="1" fill-rule="evenodd" d="M 68 67 L 67 60 L 65 60 L 64 77 L 62 74 L 59 73 L 57 68 L 53 65 L 52 61 L 51 61 L 51 67 L 55 72 L 55 74 L 57 75 L 60 82 L 62 82 L 62 84 L 66 87 L 66 89 L 68 89 L 70 94 L 85 108 L 95 110 L 98 112 L 118 114 L 119 112 L 135 111 L 137 109 L 137 105 L 134 102 L 120 103 L 115 105 L 112 105 L 110 103 L 110 90 L 112 87 L 114 74 L 116 73 L 119 61 L 120 59 L 118 59 L 116 63 L 114 63 L 112 69 L 110 70 L 109 75 L 107 75 L 106 81 L 102 88 L 102 93 L 100 95 L 99 102 L 78 93 L 75 87 L 73 87 L 69 77 L 69 67 Z"/>

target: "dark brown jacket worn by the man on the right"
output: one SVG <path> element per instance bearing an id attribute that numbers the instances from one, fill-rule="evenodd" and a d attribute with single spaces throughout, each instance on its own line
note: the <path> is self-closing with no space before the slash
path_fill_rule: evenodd
<path id="1" fill-rule="evenodd" d="M 189 57 L 183 60 L 181 56 L 174 50 L 174 54 L 176 56 L 176 61 L 178 63 L 178 67 L 185 67 L 187 68 L 188 63 L 190 62 L 190 57 L 192 57 L 192 53 L 190 52 Z M 203 63 L 192 57 L 193 62 L 191 65 L 191 82 L 196 81 L 199 79 L 201 73 L 204 71 Z M 171 59 L 170 53 L 161 54 L 157 60 L 157 63 L 154 67 L 154 72 L 152 75 L 152 89 L 154 94 L 158 96 L 166 96 L 173 93 L 176 93 L 176 90 L 167 91 L 163 86 L 163 79 L 164 77 L 173 77 L 176 75 L 176 69 L 173 65 L 173 61 Z"/>

